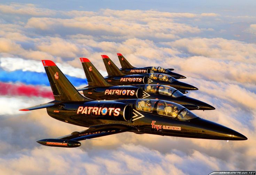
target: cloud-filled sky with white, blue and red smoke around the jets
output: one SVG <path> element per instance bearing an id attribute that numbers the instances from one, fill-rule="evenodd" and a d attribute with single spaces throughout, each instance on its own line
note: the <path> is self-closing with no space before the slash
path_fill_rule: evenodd
<path id="1" fill-rule="evenodd" d="M 256 170 L 255 1 L 0 2 L 0 174 L 209 174 Z M 246 141 L 121 133 L 78 148 L 38 144 L 85 128 L 19 109 L 53 100 L 41 59 L 87 86 L 79 57 L 107 75 L 100 55 L 121 67 L 163 66 L 216 110 L 193 111 Z"/>

